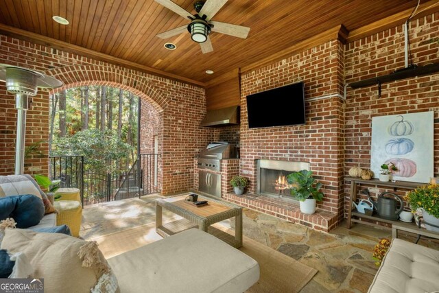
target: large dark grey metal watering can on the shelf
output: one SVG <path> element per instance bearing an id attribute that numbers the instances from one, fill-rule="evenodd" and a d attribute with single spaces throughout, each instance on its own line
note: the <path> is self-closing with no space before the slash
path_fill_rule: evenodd
<path id="1" fill-rule="evenodd" d="M 404 208 L 404 202 L 401 200 L 401 198 L 399 198 L 399 196 L 390 192 L 383 192 L 379 194 L 378 201 L 375 202 L 372 200 L 372 198 L 370 198 L 370 194 L 367 189 L 364 189 L 361 192 L 368 196 L 369 200 L 373 204 L 374 209 L 377 210 L 379 217 L 387 220 L 398 220 L 399 214 Z M 399 208 L 396 208 L 398 203 Z"/>

